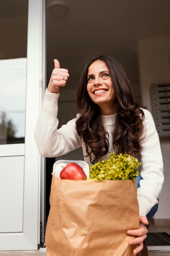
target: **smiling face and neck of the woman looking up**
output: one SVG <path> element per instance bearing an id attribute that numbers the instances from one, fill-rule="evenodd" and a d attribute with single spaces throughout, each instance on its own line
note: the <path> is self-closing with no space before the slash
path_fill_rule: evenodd
<path id="1" fill-rule="evenodd" d="M 104 61 L 97 60 L 88 67 L 87 81 L 88 95 L 99 106 L 101 114 L 115 114 L 115 91 Z"/>

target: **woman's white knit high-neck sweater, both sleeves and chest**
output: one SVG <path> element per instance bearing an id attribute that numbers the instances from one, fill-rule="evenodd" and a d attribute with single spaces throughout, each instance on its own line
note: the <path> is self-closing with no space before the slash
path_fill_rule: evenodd
<path id="1" fill-rule="evenodd" d="M 86 155 L 86 148 L 81 137 L 77 134 L 75 128 L 75 119 L 68 121 L 57 130 L 57 103 L 60 94 L 45 92 L 44 100 L 38 123 L 35 126 L 35 141 L 40 155 L 44 157 L 57 157 L 65 155 L 68 152 L 82 146 L 83 153 Z M 139 202 L 139 214 L 146 216 L 150 209 L 157 204 L 157 198 L 161 193 L 163 186 L 163 159 L 161 154 L 159 136 L 155 128 L 155 123 L 151 113 L 143 109 L 145 114 L 144 133 L 141 137 L 141 177 L 140 187 L 137 189 L 137 198 Z M 102 116 L 104 127 L 109 134 L 109 152 L 105 157 L 108 159 L 109 153 L 113 153 L 113 136 L 115 115 Z M 89 157 L 84 157 L 84 161 L 90 163 Z"/>

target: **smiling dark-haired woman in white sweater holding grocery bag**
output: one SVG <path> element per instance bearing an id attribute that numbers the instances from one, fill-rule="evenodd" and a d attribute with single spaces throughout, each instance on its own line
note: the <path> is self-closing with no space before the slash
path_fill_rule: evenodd
<path id="1" fill-rule="evenodd" d="M 82 146 L 88 164 L 107 159 L 109 153 L 126 153 L 142 162 L 137 189 L 140 228 L 128 230 L 137 236 L 137 254 L 143 248 L 148 225 L 146 215 L 158 203 L 163 185 L 163 161 L 159 136 L 152 115 L 134 102 L 130 82 L 122 65 L 102 55 L 88 61 L 77 92 L 77 117 L 57 130 L 57 100 L 65 86 L 68 70 L 54 60 L 48 88 L 42 103 L 35 141 L 44 157 L 64 155 Z"/>

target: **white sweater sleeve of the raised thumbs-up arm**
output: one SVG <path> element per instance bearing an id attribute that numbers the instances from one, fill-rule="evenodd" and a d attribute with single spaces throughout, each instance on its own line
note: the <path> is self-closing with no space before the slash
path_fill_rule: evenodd
<path id="1" fill-rule="evenodd" d="M 76 118 L 57 130 L 59 95 L 46 90 L 38 123 L 34 129 L 35 142 L 43 157 L 65 155 L 81 146 L 81 138 L 75 128 Z"/>

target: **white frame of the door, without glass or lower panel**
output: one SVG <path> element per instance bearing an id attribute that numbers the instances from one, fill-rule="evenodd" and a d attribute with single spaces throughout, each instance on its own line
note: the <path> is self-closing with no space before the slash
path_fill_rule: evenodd
<path id="1" fill-rule="evenodd" d="M 45 74 L 44 13 L 45 0 L 29 0 L 25 144 L 0 145 L 0 153 L 4 156 L 24 155 L 23 227 L 22 232 L 0 234 L 1 251 L 35 250 L 40 243 L 40 184 L 43 173 L 33 131 L 40 112 L 42 74 Z"/>

